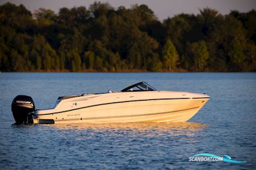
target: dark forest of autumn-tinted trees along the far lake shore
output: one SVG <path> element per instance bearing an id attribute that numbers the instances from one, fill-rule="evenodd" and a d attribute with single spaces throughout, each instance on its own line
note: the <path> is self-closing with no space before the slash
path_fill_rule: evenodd
<path id="1" fill-rule="evenodd" d="M 256 71 L 256 11 L 0 6 L 0 71 Z"/>

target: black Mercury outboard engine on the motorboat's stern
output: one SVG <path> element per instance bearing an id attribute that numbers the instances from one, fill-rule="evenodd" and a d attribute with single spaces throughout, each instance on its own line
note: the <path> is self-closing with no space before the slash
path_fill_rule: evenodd
<path id="1" fill-rule="evenodd" d="M 16 121 L 15 124 L 33 124 L 31 113 L 35 111 L 35 103 L 30 96 L 19 95 L 12 101 L 12 113 Z"/>

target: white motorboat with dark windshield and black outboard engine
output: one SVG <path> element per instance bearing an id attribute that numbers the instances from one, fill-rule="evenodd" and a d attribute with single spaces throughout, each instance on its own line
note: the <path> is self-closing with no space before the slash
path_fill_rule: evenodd
<path id="1" fill-rule="evenodd" d="M 33 99 L 17 96 L 17 124 L 186 122 L 210 99 L 206 94 L 159 91 L 144 81 L 120 92 L 58 97 L 54 108 L 35 110 Z"/>

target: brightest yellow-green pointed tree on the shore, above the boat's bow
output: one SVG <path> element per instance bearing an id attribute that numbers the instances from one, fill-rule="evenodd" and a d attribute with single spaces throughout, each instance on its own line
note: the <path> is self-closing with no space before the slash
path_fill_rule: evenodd
<path id="1" fill-rule="evenodd" d="M 162 49 L 162 60 L 164 69 L 172 71 L 177 67 L 179 55 L 170 39 L 167 39 Z"/>

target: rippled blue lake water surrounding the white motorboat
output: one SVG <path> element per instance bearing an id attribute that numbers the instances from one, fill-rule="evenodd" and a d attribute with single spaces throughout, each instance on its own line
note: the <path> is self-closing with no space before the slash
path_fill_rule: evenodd
<path id="1" fill-rule="evenodd" d="M 211 99 L 186 123 L 12 125 L 18 94 L 52 108 L 58 96 L 142 80 Z M 256 73 L 1 73 L 0 104 L 0 169 L 256 168 Z M 246 163 L 189 162 L 197 153 Z"/>

